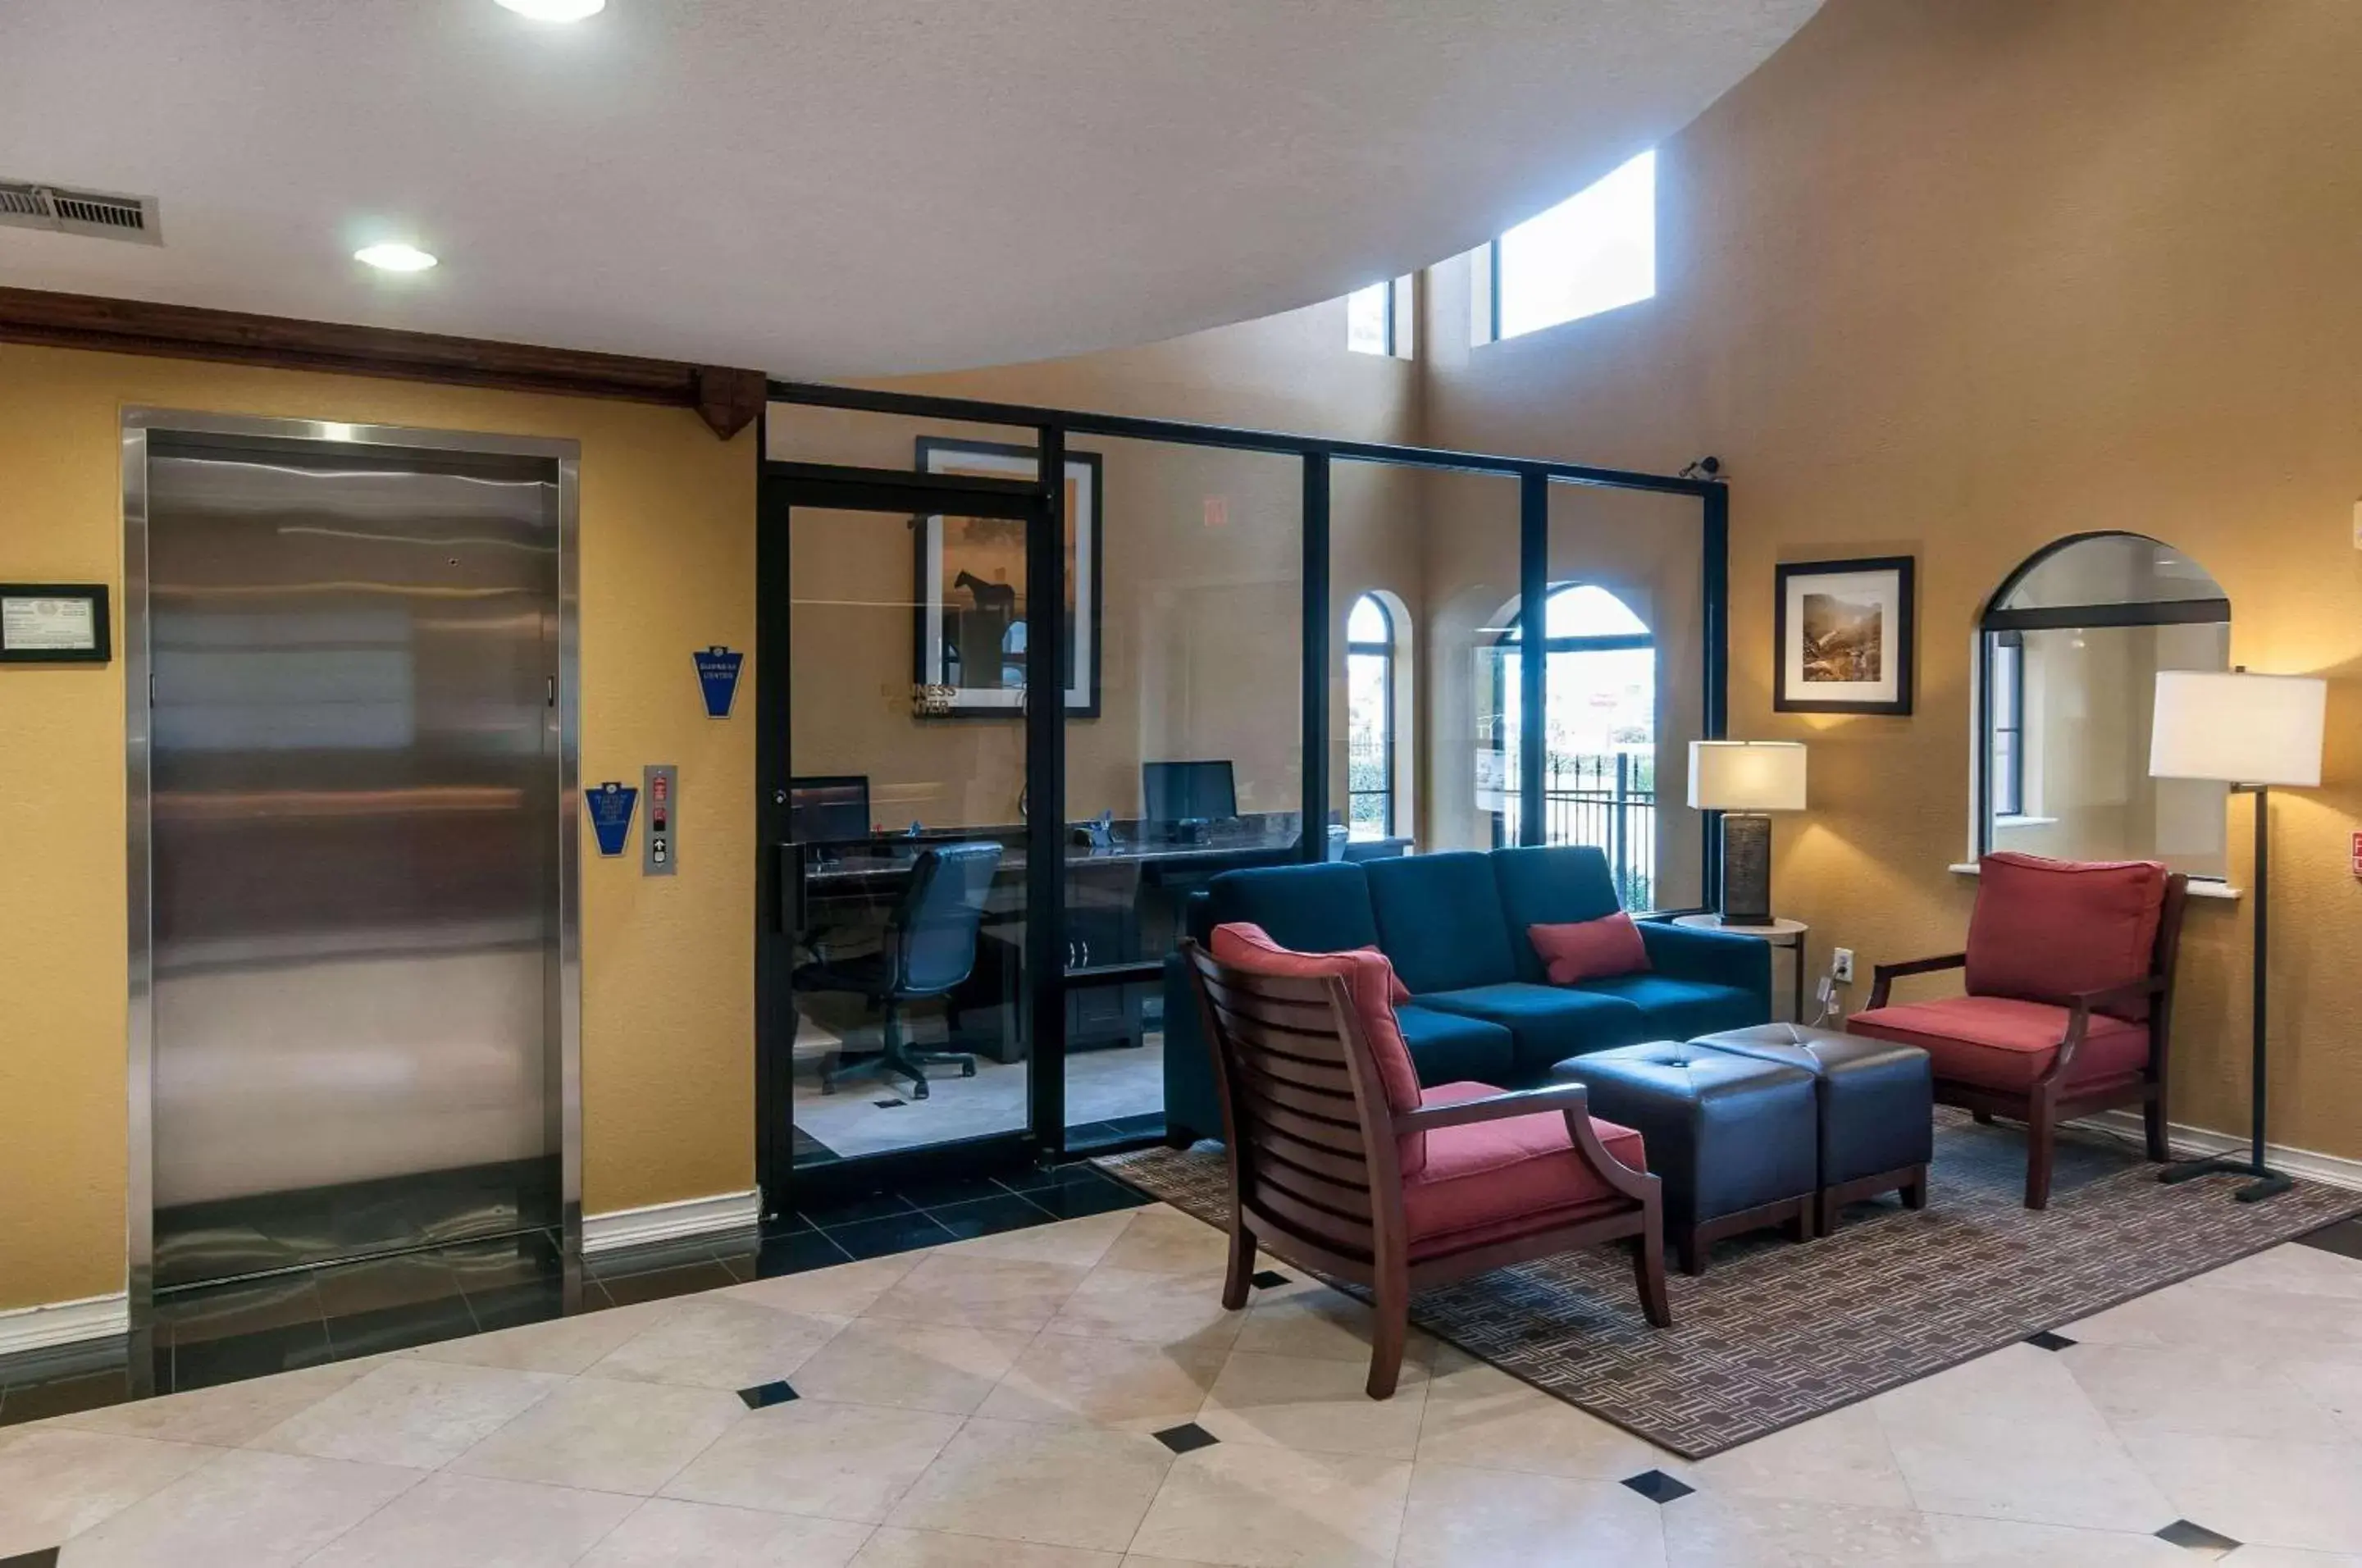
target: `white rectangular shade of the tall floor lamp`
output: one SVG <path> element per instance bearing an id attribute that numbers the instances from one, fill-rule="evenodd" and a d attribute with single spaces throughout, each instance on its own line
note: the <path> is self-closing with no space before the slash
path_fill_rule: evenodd
<path id="1" fill-rule="evenodd" d="M 2157 671 L 2149 777 L 2223 784 L 2322 782 L 2329 682 L 2246 671 Z"/>

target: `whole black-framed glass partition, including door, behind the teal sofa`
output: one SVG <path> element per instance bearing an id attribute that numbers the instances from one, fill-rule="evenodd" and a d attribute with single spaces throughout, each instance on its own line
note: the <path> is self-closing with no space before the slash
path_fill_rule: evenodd
<path id="1" fill-rule="evenodd" d="M 763 442 L 770 1211 L 1162 1136 L 1221 871 L 1599 843 L 1710 895 L 1653 782 L 1720 734 L 1715 484 L 787 383 Z M 1637 635 L 1592 586 L 1646 671 L 1559 647 Z"/>

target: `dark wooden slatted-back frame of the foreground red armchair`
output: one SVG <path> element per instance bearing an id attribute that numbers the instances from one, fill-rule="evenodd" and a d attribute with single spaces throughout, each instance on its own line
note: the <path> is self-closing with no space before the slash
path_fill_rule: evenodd
<path id="1" fill-rule="evenodd" d="M 1656 1327 L 1672 1325 L 1660 1183 L 1601 1148 L 1580 1084 L 1396 1112 L 1344 980 L 1254 975 L 1216 963 L 1198 942 L 1181 949 L 1214 1056 L 1231 1162 L 1226 1308 L 1247 1304 L 1257 1249 L 1370 1287 L 1377 1332 L 1368 1391 L 1375 1400 L 1389 1398 L 1401 1374 L 1412 1292 L 1488 1268 L 1635 1237 L 1642 1308 Z M 1535 1112 L 1561 1112 L 1580 1159 L 1625 1202 L 1547 1230 L 1412 1261 L 1398 1141 Z"/>

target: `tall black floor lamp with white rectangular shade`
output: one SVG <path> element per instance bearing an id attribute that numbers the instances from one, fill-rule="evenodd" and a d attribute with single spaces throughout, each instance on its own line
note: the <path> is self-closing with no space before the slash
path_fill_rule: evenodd
<path id="1" fill-rule="evenodd" d="M 2263 1162 L 2265 1112 L 2265 989 L 2272 973 L 2272 786 L 2312 789 L 2322 782 L 2322 720 L 2329 685 L 2310 675 L 2251 675 L 2237 671 L 2159 671 L 2157 720 L 2149 730 L 2149 777 L 2213 779 L 2256 796 L 2256 999 L 2253 999 L 2253 1138 L 2246 1159 L 2216 1155 L 2166 1167 L 2159 1181 L 2190 1181 L 2232 1171 L 2253 1176 L 2232 1197 L 2258 1202 L 2289 1190 L 2289 1178 Z"/>

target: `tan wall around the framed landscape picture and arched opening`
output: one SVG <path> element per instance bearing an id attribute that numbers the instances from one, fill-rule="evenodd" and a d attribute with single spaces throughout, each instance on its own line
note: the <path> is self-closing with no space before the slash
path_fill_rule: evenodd
<path id="1" fill-rule="evenodd" d="M 2041 543 L 2154 534 L 2232 659 L 2331 678 L 2275 803 L 2275 1138 L 2362 1157 L 2362 7 L 1831 0 L 1658 158 L 1658 295 L 1469 349 L 1431 276 L 1427 439 L 1731 475 L 1731 734 L 1812 741 L 1776 902 L 1814 963 L 1956 947 L 1970 652 Z M 1772 567 L 1920 562 L 1918 713 L 1772 711 Z M 2230 817 L 2246 881 L 2249 803 Z M 2199 902 L 2178 1119 L 2246 1115 L 2249 907 Z M 1866 987 L 1857 987 L 1859 992 Z"/>

